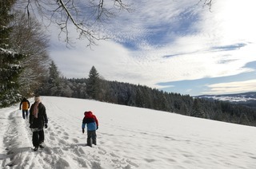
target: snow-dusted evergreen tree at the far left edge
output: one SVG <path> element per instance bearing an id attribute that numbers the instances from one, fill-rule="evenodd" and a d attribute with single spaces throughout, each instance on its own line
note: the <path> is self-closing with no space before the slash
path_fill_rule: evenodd
<path id="1" fill-rule="evenodd" d="M 22 73 L 19 61 L 25 55 L 15 52 L 10 45 L 10 22 L 14 18 L 10 10 L 14 1 L 0 2 L 0 107 L 14 104 L 19 100 L 18 77 Z"/>

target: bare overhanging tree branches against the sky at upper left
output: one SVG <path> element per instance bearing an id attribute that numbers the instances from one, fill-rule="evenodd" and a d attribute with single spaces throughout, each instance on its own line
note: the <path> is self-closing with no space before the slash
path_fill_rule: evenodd
<path id="1" fill-rule="evenodd" d="M 26 2 L 26 13 L 31 11 L 47 18 L 50 24 L 54 22 L 60 29 L 59 37 L 65 33 L 65 41 L 70 44 L 70 29 L 75 27 L 78 39 L 87 39 L 88 46 L 96 45 L 96 41 L 108 37 L 101 35 L 100 26 L 114 17 L 114 10 L 130 11 L 130 6 L 121 0 L 23 0 Z M 112 2 L 112 7 L 110 3 Z"/>

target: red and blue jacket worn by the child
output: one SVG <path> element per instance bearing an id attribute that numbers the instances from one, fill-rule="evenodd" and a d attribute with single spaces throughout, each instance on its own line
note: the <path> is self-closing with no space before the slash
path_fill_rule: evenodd
<path id="1" fill-rule="evenodd" d="M 85 112 L 85 117 L 82 120 L 82 128 L 86 128 L 88 131 L 94 131 L 98 129 L 98 119 L 92 112 Z"/>

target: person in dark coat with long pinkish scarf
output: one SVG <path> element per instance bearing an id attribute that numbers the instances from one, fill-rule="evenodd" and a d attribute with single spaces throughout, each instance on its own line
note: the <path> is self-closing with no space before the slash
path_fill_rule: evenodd
<path id="1" fill-rule="evenodd" d="M 40 96 L 35 96 L 34 104 L 30 108 L 30 128 L 33 132 L 34 151 L 38 151 L 38 147 L 43 148 L 42 143 L 45 140 L 43 128 L 47 128 L 47 123 L 46 107 L 41 103 Z"/>

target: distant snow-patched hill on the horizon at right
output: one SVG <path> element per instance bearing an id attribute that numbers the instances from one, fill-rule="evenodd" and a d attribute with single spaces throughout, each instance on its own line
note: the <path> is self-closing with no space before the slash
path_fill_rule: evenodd
<path id="1" fill-rule="evenodd" d="M 256 108 L 256 92 L 244 92 L 244 93 L 238 93 L 238 94 L 225 94 L 225 95 L 201 95 L 201 96 L 195 96 L 195 97 L 206 99 L 206 100 L 229 101 L 232 104 L 242 104 L 242 105 Z"/>

